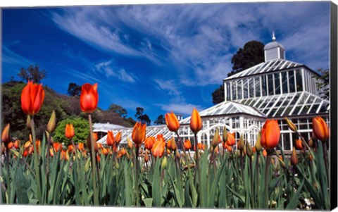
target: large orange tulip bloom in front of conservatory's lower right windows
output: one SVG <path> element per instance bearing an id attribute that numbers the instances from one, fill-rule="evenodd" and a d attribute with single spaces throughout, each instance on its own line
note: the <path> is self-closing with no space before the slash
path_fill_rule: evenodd
<path id="1" fill-rule="evenodd" d="M 261 144 L 265 149 L 274 149 L 280 142 L 280 125 L 277 120 L 266 120 L 262 129 Z"/>

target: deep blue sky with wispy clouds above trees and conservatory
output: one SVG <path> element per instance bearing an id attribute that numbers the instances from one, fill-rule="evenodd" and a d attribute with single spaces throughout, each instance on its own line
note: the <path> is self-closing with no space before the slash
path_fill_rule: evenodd
<path id="1" fill-rule="evenodd" d="M 212 106 L 211 93 L 246 42 L 275 31 L 290 61 L 329 67 L 330 2 L 6 8 L 2 82 L 39 64 L 44 85 L 99 84 L 99 107 L 137 106 L 152 121 Z"/>

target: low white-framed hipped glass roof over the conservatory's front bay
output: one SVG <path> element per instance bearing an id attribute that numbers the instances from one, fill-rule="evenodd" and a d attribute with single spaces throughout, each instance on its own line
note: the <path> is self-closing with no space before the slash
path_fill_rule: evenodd
<path id="1" fill-rule="evenodd" d="M 264 113 L 258 111 L 256 108 L 252 108 L 251 106 L 247 106 L 234 101 L 223 101 L 220 104 L 216 104 L 211 108 L 207 108 L 206 110 L 199 112 L 199 116 L 203 118 L 205 116 L 221 116 L 221 115 L 229 116 L 232 114 L 239 113 L 265 118 Z M 181 125 L 189 123 L 190 116 L 180 121 Z"/>

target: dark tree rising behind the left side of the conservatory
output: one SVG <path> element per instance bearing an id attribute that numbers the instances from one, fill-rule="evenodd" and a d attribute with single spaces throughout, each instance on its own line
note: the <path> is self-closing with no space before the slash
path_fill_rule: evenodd
<path id="1" fill-rule="evenodd" d="M 252 66 L 264 62 L 264 44 L 258 41 L 251 41 L 244 44 L 243 49 L 239 48 L 237 53 L 232 56 L 232 71 L 227 74 L 228 77 L 246 70 Z M 220 85 L 212 94 L 213 104 L 218 104 L 224 99 L 224 86 Z"/>

